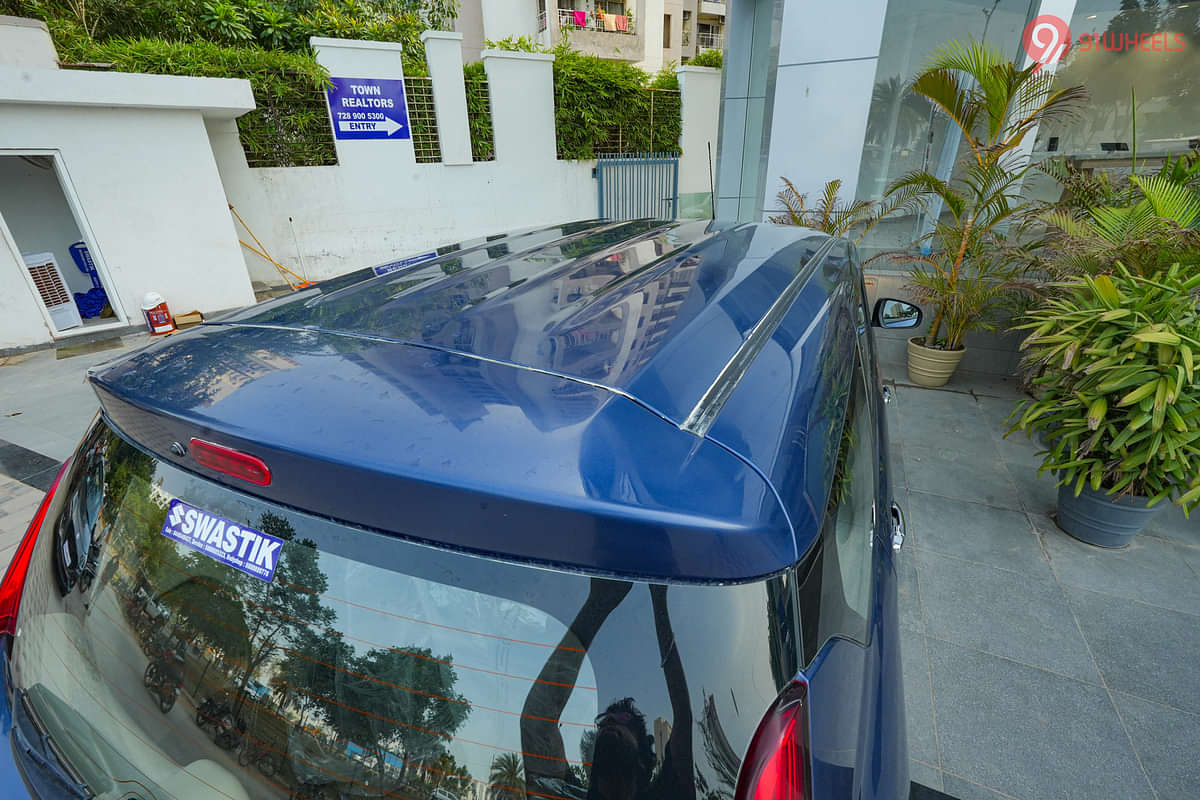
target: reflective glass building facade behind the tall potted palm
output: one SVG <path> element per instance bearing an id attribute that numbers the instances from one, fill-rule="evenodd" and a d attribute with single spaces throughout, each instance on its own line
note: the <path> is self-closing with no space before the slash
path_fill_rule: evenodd
<path id="1" fill-rule="evenodd" d="M 1024 62 L 1021 34 L 1043 13 L 1069 13 L 1073 44 L 1057 74 L 1067 85 L 1085 86 L 1088 101 L 1073 119 L 1037 132 L 1034 160 L 1061 156 L 1084 169 L 1128 169 L 1134 144 L 1150 166 L 1198 146 L 1200 0 L 893 0 L 863 143 L 859 199 L 880 199 L 912 170 L 947 178 L 958 162 L 956 131 L 906 91 L 930 54 L 949 41 L 974 38 Z M 1025 191 L 1056 199 L 1061 190 L 1032 173 Z M 869 257 L 904 247 L 925 230 L 919 215 L 898 216 L 872 230 L 863 251 Z"/>

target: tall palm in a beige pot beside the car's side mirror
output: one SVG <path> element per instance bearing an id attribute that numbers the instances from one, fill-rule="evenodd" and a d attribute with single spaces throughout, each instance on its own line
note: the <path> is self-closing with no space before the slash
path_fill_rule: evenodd
<path id="1" fill-rule="evenodd" d="M 893 203 L 913 205 L 931 221 L 916 253 L 892 258 L 912 265 L 910 289 L 932 312 L 929 331 L 908 341 L 908 378 L 941 386 L 966 353 L 966 333 L 991 326 L 990 313 L 1028 264 L 1006 231 L 1028 207 L 1020 197 L 1030 169 L 1022 144 L 1043 122 L 1073 113 L 1085 92 L 978 42 L 936 52 L 912 91 L 949 120 L 965 145 L 950 178 L 918 170 L 887 190 Z"/>

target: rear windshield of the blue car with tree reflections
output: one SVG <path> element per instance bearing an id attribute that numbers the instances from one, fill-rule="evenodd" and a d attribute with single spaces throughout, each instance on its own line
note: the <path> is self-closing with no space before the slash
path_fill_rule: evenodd
<path id="1" fill-rule="evenodd" d="M 731 799 L 797 670 L 791 594 L 419 545 L 101 421 L 42 527 L 11 686 L 83 796 Z"/>

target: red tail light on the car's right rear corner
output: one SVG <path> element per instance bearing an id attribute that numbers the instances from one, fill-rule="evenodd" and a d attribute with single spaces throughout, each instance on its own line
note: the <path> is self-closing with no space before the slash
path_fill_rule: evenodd
<path id="1" fill-rule="evenodd" d="M 736 800 L 809 800 L 809 686 L 797 680 L 779 696 L 750 740 Z"/>

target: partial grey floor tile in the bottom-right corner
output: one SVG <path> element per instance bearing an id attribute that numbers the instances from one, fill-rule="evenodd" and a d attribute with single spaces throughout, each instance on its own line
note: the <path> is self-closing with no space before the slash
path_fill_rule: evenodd
<path id="1" fill-rule="evenodd" d="M 1129 694 L 1114 697 L 1159 800 L 1200 795 L 1200 716 Z"/>

